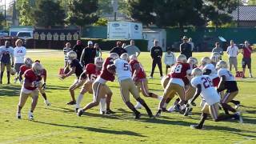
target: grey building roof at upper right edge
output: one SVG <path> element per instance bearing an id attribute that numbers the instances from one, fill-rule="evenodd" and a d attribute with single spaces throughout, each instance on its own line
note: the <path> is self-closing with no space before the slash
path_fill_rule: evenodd
<path id="1" fill-rule="evenodd" d="M 238 9 L 230 15 L 234 21 L 238 21 Z M 256 21 L 256 6 L 239 6 L 239 21 Z"/>

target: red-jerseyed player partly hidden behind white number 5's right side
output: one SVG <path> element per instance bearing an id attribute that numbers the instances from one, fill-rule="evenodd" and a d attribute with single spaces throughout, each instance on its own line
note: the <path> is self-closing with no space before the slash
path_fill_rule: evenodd
<path id="1" fill-rule="evenodd" d="M 132 70 L 132 76 L 133 76 L 133 81 L 135 85 L 138 87 L 138 90 L 142 91 L 142 94 L 145 97 L 151 97 L 151 98 L 158 98 L 162 99 L 162 97 L 159 97 L 157 94 L 154 94 L 149 91 L 148 85 L 147 85 L 147 79 L 146 79 L 146 73 L 142 67 L 142 64 L 138 62 L 138 59 L 136 55 L 130 55 L 130 67 Z M 137 105 L 134 106 L 136 109 L 142 108 L 142 105 L 137 102 Z"/>

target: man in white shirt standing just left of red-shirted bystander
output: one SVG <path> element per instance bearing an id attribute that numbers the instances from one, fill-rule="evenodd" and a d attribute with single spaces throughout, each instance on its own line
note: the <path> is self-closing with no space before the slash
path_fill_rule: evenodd
<path id="1" fill-rule="evenodd" d="M 238 46 L 234 45 L 234 41 L 230 41 L 230 46 L 227 47 L 226 53 L 229 57 L 229 63 L 230 63 L 230 71 L 232 70 L 232 66 L 234 66 L 234 70 L 238 71 Z"/>

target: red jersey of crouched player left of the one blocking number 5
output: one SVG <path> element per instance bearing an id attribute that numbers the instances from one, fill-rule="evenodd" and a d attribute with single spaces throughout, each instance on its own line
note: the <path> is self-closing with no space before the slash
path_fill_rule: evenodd
<path id="1" fill-rule="evenodd" d="M 90 82 L 94 82 L 99 74 L 101 74 L 101 70 L 96 70 L 95 64 L 89 63 L 86 65 L 86 76 Z"/>

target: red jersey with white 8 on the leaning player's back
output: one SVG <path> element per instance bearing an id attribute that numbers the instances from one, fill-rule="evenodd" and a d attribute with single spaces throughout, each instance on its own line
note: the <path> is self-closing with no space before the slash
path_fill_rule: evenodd
<path id="1" fill-rule="evenodd" d="M 172 67 L 170 78 L 185 78 L 187 70 L 190 70 L 190 64 L 177 62 Z"/>

